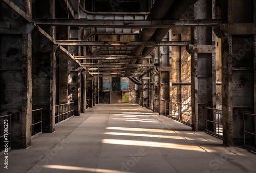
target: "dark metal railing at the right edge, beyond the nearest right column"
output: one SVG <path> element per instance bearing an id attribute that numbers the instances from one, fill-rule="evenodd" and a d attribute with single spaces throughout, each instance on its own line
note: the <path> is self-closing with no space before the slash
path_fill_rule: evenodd
<path id="1" fill-rule="evenodd" d="M 256 122 L 256 114 L 250 114 L 250 113 L 242 113 L 243 114 L 243 131 L 244 131 L 244 147 L 249 148 L 256 152 L 256 127 L 255 125 L 252 126 L 245 126 L 245 124 L 248 124 L 248 121 L 251 123 Z M 245 121 L 247 121 L 245 123 Z M 251 128 L 252 127 L 252 128 Z M 251 129 L 249 129 L 251 128 Z"/>

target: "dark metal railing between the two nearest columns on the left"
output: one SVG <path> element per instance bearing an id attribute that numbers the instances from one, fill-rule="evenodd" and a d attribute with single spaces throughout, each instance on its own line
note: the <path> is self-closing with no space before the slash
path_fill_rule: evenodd
<path id="1" fill-rule="evenodd" d="M 42 108 L 32 110 L 31 138 L 42 133 Z"/>

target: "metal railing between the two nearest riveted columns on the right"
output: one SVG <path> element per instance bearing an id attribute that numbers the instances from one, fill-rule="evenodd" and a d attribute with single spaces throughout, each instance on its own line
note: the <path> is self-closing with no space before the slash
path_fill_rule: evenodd
<path id="1" fill-rule="evenodd" d="M 212 120 L 207 119 L 207 110 L 212 110 Z M 217 116 L 218 116 L 217 122 L 216 122 L 216 117 L 214 116 L 214 115 L 216 115 L 216 111 L 217 111 Z M 215 135 L 219 138 L 222 138 L 223 132 L 220 132 L 220 129 L 222 129 L 222 131 L 223 131 L 223 126 L 222 126 L 222 123 L 220 123 L 221 117 L 219 117 L 219 115 L 221 115 L 221 114 L 222 114 L 222 110 L 220 110 L 220 109 L 215 109 L 212 107 L 205 107 L 205 132 Z M 207 122 L 212 123 L 211 131 L 209 129 L 207 129 Z M 216 125 L 218 127 L 216 127 Z"/>

